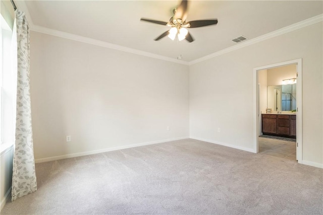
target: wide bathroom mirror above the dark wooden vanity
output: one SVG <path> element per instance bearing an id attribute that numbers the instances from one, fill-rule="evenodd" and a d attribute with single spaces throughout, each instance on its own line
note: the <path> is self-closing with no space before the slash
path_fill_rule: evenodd
<path id="1" fill-rule="evenodd" d="M 267 87 L 267 108 L 273 111 L 296 109 L 296 84 Z"/>

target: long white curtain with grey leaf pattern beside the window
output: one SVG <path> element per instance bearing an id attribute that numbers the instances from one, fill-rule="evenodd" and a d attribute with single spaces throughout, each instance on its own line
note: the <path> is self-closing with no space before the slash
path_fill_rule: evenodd
<path id="1" fill-rule="evenodd" d="M 37 190 L 32 140 L 29 86 L 29 26 L 25 13 L 16 10 L 17 27 L 17 118 L 13 161 L 12 200 Z"/>

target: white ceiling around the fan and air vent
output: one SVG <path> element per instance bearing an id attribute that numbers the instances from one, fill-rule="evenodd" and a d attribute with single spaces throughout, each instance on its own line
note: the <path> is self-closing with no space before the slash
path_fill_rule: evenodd
<path id="1" fill-rule="evenodd" d="M 189 29 L 195 39 L 154 41 L 170 27 L 141 22 L 168 22 L 180 1 L 25 1 L 33 26 L 63 31 L 128 48 L 192 61 L 322 14 L 322 1 L 190 1 L 187 21 L 213 19 L 218 25 Z M 19 3 L 19 6 L 21 3 Z M 31 28 L 32 29 L 32 28 Z M 241 42 L 242 43 L 242 42 Z"/>

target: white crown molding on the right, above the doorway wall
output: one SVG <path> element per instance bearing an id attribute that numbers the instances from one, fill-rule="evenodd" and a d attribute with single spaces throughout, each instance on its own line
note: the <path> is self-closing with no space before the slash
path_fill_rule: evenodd
<path id="1" fill-rule="evenodd" d="M 313 25 L 315 23 L 322 22 L 322 21 L 323 21 L 323 14 L 320 14 L 320 15 L 317 15 L 315 17 L 312 17 L 312 18 L 303 20 L 301 22 L 292 24 L 290 26 L 278 29 L 276 31 L 261 35 L 259 37 L 256 37 L 256 38 L 253 38 L 253 39 L 250 39 L 250 40 L 247 40 L 247 41 L 244 41 L 243 43 L 231 46 L 229 48 L 222 49 L 220 51 L 214 52 L 212 54 L 208 54 L 206 56 L 200 57 L 200 58 L 195 59 L 195 60 L 192 60 L 192 61 L 189 62 L 189 65 L 193 65 L 195 63 L 199 63 L 199 62 L 211 59 L 213 57 L 217 57 L 217 56 L 220 56 L 222 54 L 226 54 L 226 53 L 229 53 L 231 51 L 235 51 L 235 50 L 238 50 L 240 48 L 243 48 L 243 47 L 246 47 L 246 46 L 249 46 L 249 45 L 264 41 L 264 40 L 267 40 L 267 39 L 271 39 L 273 37 L 277 37 L 279 35 L 286 34 L 288 32 L 295 31 L 297 29 L 304 28 L 306 26 Z"/>

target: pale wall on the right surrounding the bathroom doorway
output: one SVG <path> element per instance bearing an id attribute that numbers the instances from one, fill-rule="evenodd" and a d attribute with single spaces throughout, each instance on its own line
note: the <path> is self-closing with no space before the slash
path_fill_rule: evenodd
<path id="1" fill-rule="evenodd" d="M 303 161 L 322 167 L 322 37 L 320 22 L 191 65 L 190 136 L 252 151 L 253 68 L 302 58 Z"/>

